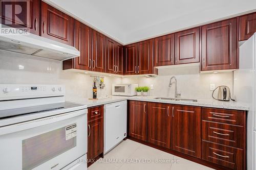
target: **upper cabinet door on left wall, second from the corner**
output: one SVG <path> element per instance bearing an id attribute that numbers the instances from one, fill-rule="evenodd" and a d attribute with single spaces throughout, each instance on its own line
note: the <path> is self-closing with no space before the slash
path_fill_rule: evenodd
<path id="1" fill-rule="evenodd" d="M 110 38 L 106 38 L 106 72 L 116 73 L 116 42 Z"/>

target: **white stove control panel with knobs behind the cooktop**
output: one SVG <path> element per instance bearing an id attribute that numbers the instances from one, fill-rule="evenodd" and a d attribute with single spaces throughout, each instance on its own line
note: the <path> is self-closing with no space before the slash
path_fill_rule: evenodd
<path id="1" fill-rule="evenodd" d="M 0 84 L 0 101 L 64 95 L 65 85 Z"/>

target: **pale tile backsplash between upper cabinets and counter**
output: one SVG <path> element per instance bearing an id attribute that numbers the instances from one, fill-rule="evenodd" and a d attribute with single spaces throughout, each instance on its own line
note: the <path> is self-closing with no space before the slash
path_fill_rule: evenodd
<path id="1" fill-rule="evenodd" d="M 174 97 L 175 87 L 168 87 L 169 79 L 177 78 L 177 89 L 182 98 L 211 99 L 210 84 L 226 85 L 232 92 L 232 72 L 199 74 L 199 66 L 162 68 L 155 78 L 104 76 L 105 88 L 98 96 L 111 94 L 112 83 L 154 85 L 150 95 Z M 0 50 L 0 84 L 64 84 L 66 98 L 91 98 L 93 77 L 84 73 L 62 70 L 62 62 Z"/>

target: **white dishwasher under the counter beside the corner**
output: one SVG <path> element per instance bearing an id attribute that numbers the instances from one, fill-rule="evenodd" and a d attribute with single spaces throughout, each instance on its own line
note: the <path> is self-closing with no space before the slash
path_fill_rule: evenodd
<path id="1" fill-rule="evenodd" d="M 127 101 L 104 106 L 104 154 L 113 149 L 126 137 Z"/>

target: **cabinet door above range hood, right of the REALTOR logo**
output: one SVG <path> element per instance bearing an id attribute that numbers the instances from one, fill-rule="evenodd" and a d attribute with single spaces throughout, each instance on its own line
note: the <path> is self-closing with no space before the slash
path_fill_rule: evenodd
<path id="1" fill-rule="evenodd" d="M 41 1 L 41 36 L 73 45 L 74 19 Z"/>

